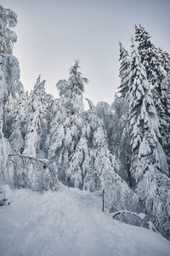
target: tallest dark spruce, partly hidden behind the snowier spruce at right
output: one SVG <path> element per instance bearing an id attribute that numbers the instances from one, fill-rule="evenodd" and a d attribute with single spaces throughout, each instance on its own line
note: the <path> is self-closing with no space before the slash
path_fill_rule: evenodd
<path id="1" fill-rule="evenodd" d="M 138 42 L 139 55 L 144 64 L 150 87 L 152 88 L 153 100 L 160 121 L 161 145 L 168 155 L 169 152 L 167 152 L 165 142 L 167 141 L 167 137 L 169 137 L 167 132 L 169 129 L 170 115 L 167 112 L 168 96 L 164 81 L 167 76 L 167 61 L 165 61 L 165 55 L 162 58 L 162 52 L 151 43 L 150 34 L 141 25 L 135 26 L 135 40 Z"/>

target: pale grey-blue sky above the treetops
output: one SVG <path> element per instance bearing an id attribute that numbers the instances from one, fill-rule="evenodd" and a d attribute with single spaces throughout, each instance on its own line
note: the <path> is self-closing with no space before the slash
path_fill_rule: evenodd
<path id="1" fill-rule="evenodd" d="M 39 73 L 48 93 L 67 79 L 74 60 L 90 80 L 86 96 L 111 103 L 118 79 L 118 42 L 130 48 L 134 24 L 141 23 L 152 41 L 170 52 L 169 0 L 1 0 L 19 23 L 14 55 L 20 61 L 21 82 L 31 90 Z"/>

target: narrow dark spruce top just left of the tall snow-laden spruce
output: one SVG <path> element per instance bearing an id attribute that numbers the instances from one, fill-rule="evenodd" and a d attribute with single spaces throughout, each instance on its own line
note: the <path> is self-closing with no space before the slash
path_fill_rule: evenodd
<path id="1" fill-rule="evenodd" d="M 118 87 L 118 92 L 120 93 L 123 99 L 126 98 L 128 91 L 128 76 L 129 76 L 129 67 L 130 67 L 130 58 L 127 50 L 122 46 L 122 43 L 119 42 L 120 47 L 120 68 L 119 68 L 119 77 L 121 79 L 121 84 Z"/>

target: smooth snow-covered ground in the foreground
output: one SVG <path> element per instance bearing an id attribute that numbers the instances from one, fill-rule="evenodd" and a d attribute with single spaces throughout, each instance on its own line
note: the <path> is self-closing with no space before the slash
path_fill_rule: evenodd
<path id="1" fill-rule="evenodd" d="M 62 187 L 39 194 L 11 191 L 0 207 L 1 256 L 170 255 L 170 243 L 101 212 L 101 197 Z"/>

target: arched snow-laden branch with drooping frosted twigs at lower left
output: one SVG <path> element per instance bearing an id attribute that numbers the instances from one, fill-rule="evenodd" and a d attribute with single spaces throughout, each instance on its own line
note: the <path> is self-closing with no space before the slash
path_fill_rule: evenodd
<path id="1" fill-rule="evenodd" d="M 21 162 L 19 158 L 22 160 Z M 8 160 L 17 166 L 16 169 L 14 168 L 16 187 L 26 187 L 38 191 L 58 189 L 57 171 L 53 166 L 49 166 L 46 160 L 26 154 L 8 154 Z M 18 161 L 16 162 L 16 160 Z M 29 160 L 29 162 L 26 163 L 24 160 Z"/>

